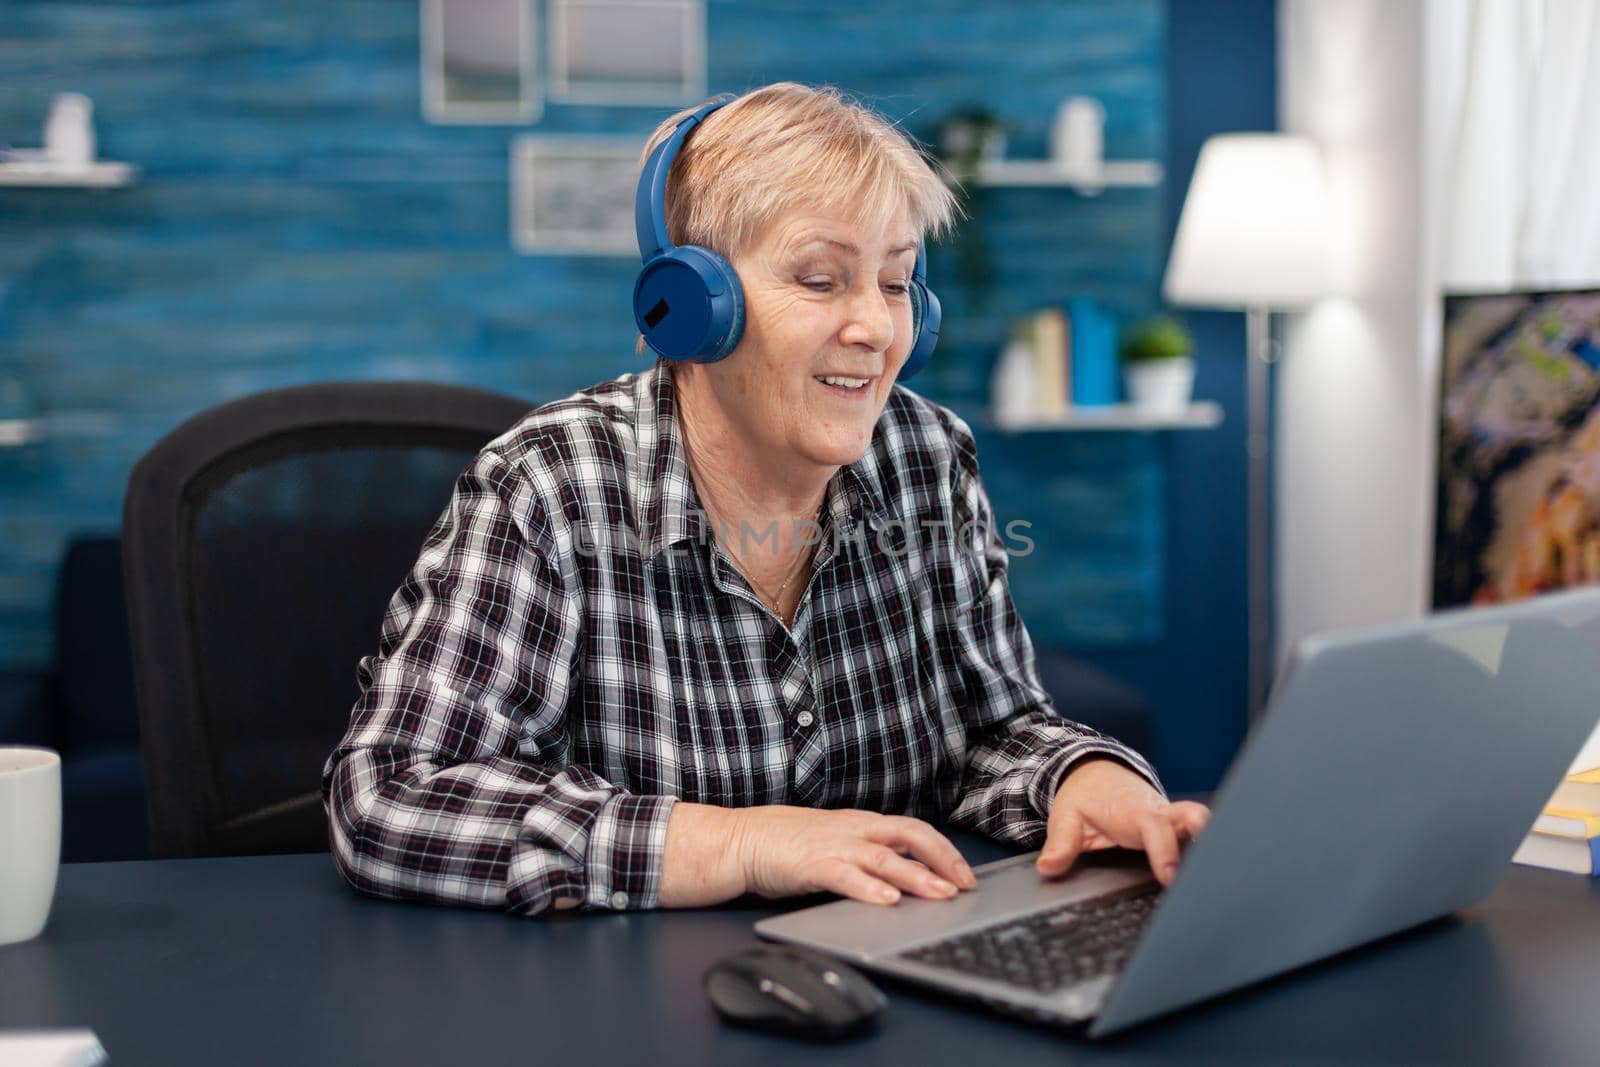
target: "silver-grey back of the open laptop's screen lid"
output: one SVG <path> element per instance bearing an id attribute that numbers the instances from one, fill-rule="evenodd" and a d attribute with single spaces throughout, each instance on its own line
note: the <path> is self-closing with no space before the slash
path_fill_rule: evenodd
<path id="1" fill-rule="evenodd" d="M 1597 717 L 1597 589 L 1307 638 L 1090 1032 L 1482 899 Z"/>

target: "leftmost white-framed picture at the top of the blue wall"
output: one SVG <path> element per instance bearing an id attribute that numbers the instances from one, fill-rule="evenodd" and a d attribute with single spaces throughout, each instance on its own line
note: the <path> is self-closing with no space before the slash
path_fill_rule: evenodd
<path id="1" fill-rule="evenodd" d="M 422 117 L 530 123 L 544 112 L 538 0 L 421 0 Z"/>

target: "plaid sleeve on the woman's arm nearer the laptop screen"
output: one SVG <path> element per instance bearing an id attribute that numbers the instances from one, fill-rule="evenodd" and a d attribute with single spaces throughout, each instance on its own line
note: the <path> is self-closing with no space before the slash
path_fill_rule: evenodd
<path id="1" fill-rule="evenodd" d="M 966 766 L 949 821 L 997 840 L 1037 848 L 1067 773 L 1090 757 L 1122 761 L 1162 790 L 1155 769 L 1128 745 L 1062 718 L 1038 680 L 1034 643 L 1011 601 L 1006 549 L 978 478 L 965 426 L 955 435 L 955 550 L 965 553 L 971 600 L 958 606 L 955 653 L 963 693 Z M 1163 790 L 1165 795 L 1165 790 Z"/>

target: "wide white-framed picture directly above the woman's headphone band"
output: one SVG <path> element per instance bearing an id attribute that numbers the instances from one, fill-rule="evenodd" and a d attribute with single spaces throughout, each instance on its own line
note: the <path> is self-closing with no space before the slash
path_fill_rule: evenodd
<path id="1" fill-rule="evenodd" d="M 706 96 L 704 0 L 550 0 L 549 93 L 563 104 Z"/>

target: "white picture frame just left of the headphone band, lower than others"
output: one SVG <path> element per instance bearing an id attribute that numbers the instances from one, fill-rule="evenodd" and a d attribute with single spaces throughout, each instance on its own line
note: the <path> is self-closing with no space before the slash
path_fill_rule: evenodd
<path id="1" fill-rule="evenodd" d="M 522 134 L 510 146 L 510 238 L 523 254 L 638 256 L 635 138 Z"/>

